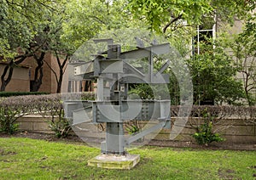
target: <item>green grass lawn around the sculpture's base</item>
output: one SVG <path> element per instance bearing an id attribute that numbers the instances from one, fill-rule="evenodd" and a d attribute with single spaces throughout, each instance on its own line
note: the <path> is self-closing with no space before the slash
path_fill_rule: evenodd
<path id="1" fill-rule="evenodd" d="M 0 179 L 254 179 L 256 151 L 143 147 L 128 170 L 87 166 L 100 154 L 84 143 L 0 138 Z"/>

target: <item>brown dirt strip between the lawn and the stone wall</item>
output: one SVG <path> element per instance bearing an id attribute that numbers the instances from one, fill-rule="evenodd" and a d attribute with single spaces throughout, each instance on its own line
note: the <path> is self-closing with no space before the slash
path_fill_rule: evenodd
<path id="1" fill-rule="evenodd" d="M 38 132 L 16 132 L 13 135 L 6 135 L 0 133 L 0 138 L 33 138 L 44 139 L 54 142 L 67 142 L 67 143 L 84 143 L 78 136 L 70 135 L 67 138 L 55 138 L 54 134 L 38 133 Z M 188 149 L 229 149 L 229 150 L 256 150 L 254 143 L 211 143 L 209 145 L 198 145 L 195 142 L 178 142 L 178 141 L 159 141 L 152 140 L 148 143 L 151 146 L 172 147 L 172 148 L 188 148 Z"/>

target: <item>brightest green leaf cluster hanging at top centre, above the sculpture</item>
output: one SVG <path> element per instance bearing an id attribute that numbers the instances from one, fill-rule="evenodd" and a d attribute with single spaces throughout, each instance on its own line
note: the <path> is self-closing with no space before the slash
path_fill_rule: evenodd
<path id="1" fill-rule="evenodd" d="M 135 18 L 145 20 L 150 29 L 158 32 L 178 20 L 184 20 L 188 24 L 199 24 L 202 14 L 208 14 L 213 10 L 210 1 L 203 0 L 129 0 L 127 9 Z"/>

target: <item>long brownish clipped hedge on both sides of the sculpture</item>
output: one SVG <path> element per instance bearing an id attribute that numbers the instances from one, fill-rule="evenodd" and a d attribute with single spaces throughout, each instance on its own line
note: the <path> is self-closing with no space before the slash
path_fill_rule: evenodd
<path id="1" fill-rule="evenodd" d="M 65 100 L 93 100 L 94 93 L 59 93 L 46 95 L 26 95 L 0 98 L 0 131 L 13 133 L 15 131 L 15 121 L 22 115 L 39 113 L 41 115 L 51 115 L 53 120 L 55 115 L 63 118 L 62 101 Z M 171 115 L 178 115 L 180 106 L 171 106 Z M 256 107 L 245 106 L 196 106 L 191 109 L 189 117 L 202 117 L 204 115 L 214 118 L 224 119 L 228 117 L 238 117 L 255 122 Z"/>

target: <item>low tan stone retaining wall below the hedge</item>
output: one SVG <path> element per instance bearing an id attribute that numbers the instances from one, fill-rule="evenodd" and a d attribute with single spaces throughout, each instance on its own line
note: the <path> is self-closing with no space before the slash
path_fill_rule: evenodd
<path id="1" fill-rule="evenodd" d="M 172 127 L 175 122 L 175 119 L 172 119 Z M 43 118 L 40 115 L 26 115 L 21 117 L 18 120 L 20 124 L 20 130 L 30 131 L 30 132 L 44 132 L 44 133 L 53 133 L 49 129 L 49 125 L 46 121 L 46 118 Z M 148 121 L 141 121 L 141 126 L 143 127 L 147 124 Z M 201 120 L 199 118 L 189 119 L 186 126 L 183 128 L 183 131 L 174 138 L 174 141 L 195 141 L 194 138 L 191 137 L 191 134 L 195 133 L 195 126 L 201 124 Z M 93 126 L 93 125 L 91 125 Z M 150 124 L 149 124 L 150 126 Z M 219 120 L 214 122 L 213 124 L 214 132 L 218 132 L 222 135 L 222 137 L 226 138 L 225 143 L 256 143 L 256 124 L 252 121 L 244 121 L 241 119 L 230 118 L 225 120 Z M 88 128 L 88 126 L 86 127 Z M 95 126 L 94 126 L 95 128 Z M 79 130 L 78 130 L 79 132 Z M 162 130 L 159 134 L 157 134 L 154 139 L 157 140 L 170 140 L 170 132 L 171 130 Z M 104 132 L 102 132 L 99 137 L 99 133 L 92 132 L 79 132 L 84 134 L 84 137 L 89 138 L 104 138 Z M 95 137 L 97 136 L 97 137 Z"/>

